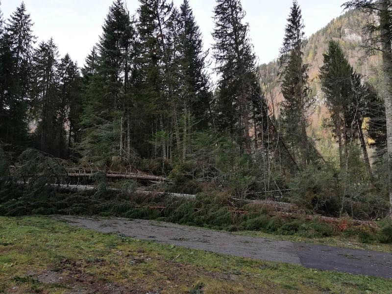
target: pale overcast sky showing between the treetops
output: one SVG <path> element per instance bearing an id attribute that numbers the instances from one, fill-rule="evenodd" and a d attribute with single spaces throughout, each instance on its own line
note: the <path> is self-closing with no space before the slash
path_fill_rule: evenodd
<path id="1" fill-rule="evenodd" d="M 183 0 L 173 1 L 179 6 Z M 3 17 L 8 18 L 20 2 L 1 0 Z M 309 36 L 342 14 L 344 0 L 298 2 L 302 8 L 305 32 Z M 70 53 L 80 66 L 98 41 L 111 3 L 112 0 L 25 0 L 38 41 L 53 37 L 60 53 Z M 139 6 L 138 0 L 126 0 L 126 3 L 132 14 Z M 282 44 L 292 0 L 242 0 L 242 3 L 259 63 L 269 62 L 277 57 Z M 215 0 L 190 0 L 190 4 L 203 33 L 204 46 L 208 49 L 213 43 L 211 32 L 214 27 L 212 16 Z"/>

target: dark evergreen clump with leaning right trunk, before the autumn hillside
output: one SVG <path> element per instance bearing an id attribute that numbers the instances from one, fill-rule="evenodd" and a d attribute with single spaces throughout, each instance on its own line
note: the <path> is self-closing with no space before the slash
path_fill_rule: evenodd
<path id="1" fill-rule="evenodd" d="M 333 131 L 339 143 L 340 166 L 341 169 L 348 168 L 348 152 L 353 139 L 358 138 L 368 174 L 372 178 L 362 126 L 364 118 L 368 115 L 368 101 L 374 98 L 373 91 L 369 86 L 362 84 L 361 78 L 345 58 L 339 43 L 331 40 L 324 54 L 324 65 L 320 68 L 320 79 L 331 114 Z"/>

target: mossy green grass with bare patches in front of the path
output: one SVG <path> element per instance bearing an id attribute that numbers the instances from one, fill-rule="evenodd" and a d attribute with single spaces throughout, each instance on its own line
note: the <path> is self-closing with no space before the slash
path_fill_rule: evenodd
<path id="1" fill-rule="evenodd" d="M 0 217 L 0 293 L 391 293 L 392 280 L 304 269 L 41 217 Z"/>

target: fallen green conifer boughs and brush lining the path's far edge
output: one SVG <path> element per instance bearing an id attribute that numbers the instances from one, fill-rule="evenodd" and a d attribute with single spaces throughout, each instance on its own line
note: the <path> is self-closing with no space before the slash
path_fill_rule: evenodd
<path id="1" fill-rule="evenodd" d="M 26 160 L 25 158 L 29 158 Z M 6 166 L 6 165 L 5 165 Z M 392 243 L 392 221 L 383 221 L 380 229 L 344 223 L 326 223 L 318 219 L 282 217 L 260 206 L 241 203 L 228 194 L 210 189 L 195 199 L 179 199 L 168 195 L 146 196 L 135 192 L 136 183 L 129 181 L 123 189 L 107 189 L 105 176 L 95 176 L 95 191 L 62 192 L 50 183 L 61 183 L 66 172 L 55 158 L 36 150 L 25 151 L 20 168 L 12 177 L 2 167 L 0 178 L 0 215 L 95 215 L 170 221 L 212 229 L 254 230 L 306 238 L 357 236 L 361 242 Z"/>

